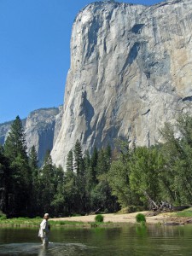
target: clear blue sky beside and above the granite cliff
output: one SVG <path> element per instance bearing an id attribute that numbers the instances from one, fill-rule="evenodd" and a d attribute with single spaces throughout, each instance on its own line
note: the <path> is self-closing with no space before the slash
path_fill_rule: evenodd
<path id="1" fill-rule="evenodd" d="M 63 103 L 73 20 L 93 2 L 0 0 L 0 123 Z"/>

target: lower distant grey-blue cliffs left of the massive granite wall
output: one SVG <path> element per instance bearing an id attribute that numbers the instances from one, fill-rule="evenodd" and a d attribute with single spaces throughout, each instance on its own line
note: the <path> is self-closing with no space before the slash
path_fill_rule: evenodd
<path id="1" fill-rule="evenodd" d="M 22 119 L 26 133 L 28 151 L 34 145 L 38 153 L 39 165 L 42 165 L 46 151 L 53 148 L 55 139 L 61 129 L 62 106 L 59 108 L 41 108 Z M 13 121 L 0 124 L 0 144 L 3 145 Z"/>

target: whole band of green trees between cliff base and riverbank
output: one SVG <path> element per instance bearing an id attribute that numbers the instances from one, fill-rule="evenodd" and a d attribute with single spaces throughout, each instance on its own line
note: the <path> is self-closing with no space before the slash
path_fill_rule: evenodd
<path id="1" fill-rule="evenodd" d="M 9 217 L 73 216 L 117 212 L 123 207 L 151 209 L 151 201 L 191 204 L 192 118 L 160 130 L 163 143 L 149 148 L 116 141 L 112 150 L 82 151 L 79 140 L 67 154 L 66 170 L 53 164 L 49 150 L 43 166 L 17 116 L 0 147 L 0 211 Z M 110 142 L 109 142 L 110 143 Z M 148 200 L 150 199 L 150 200 Z"/>

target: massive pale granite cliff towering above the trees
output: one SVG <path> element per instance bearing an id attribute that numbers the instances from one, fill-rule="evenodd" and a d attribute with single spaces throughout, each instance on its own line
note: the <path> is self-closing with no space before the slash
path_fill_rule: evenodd
<path id="1" fill-rule="evenodd" d="M 77 139 L 90 150 L 116 137 L 149 146 L 166 121 L 191 113 L 191 31 L 191 0 L 86 6 L 73 24 L 55 164 Z"/>

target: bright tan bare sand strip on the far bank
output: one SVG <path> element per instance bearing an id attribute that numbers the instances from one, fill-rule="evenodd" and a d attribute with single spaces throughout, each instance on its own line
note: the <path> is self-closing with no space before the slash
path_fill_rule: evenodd
<path id="1" fill-rule="evenodd" d="M 112 223 L 136 223 L 136 215 L 138 212 L 127 213 L 127 214 L 115 214 L 108 213 L 102 214 L 104 217 L 104 222 L 112 222 Z M 142 212 L 144 215 L 148 215 L 148 212 Z M 88 216 L 79 216 L 79 217 L 67 217 L 67 218 L 50 218 L 50 220 L 63 220 L 63 221 L 80 221 L 84 223 L 94 222 L 96 215 L 88 215 Z M 146 222 L 148 224 L 166 224 L 173 222 L 185 222 L 184 218 L 175 218 L 171 217 L 170 213 L 161 213 L 157 216 L 146 216 Z"/>

